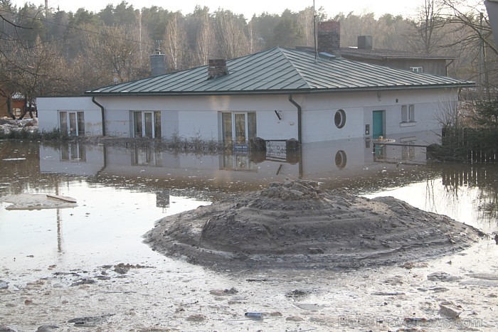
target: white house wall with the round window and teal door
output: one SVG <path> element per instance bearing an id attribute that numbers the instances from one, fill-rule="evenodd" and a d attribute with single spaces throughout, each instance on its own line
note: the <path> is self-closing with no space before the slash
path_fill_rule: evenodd
<path id="1" fill-rule="evenodd" d="M 346 92 L 307 95 L 302 100 L 302 139 L 304 142 L 330 141 L 371 136 L 373 111 L 385 112 L 384 133 L 386 137 L 406 132 L 420 132 L 440 129 L 437 114 L 444 103 L 457 100 L 455 90 L 399 90 L 381 92 Z M 402 122 L 402 105 L 415 105 L 415 122 Z M 346 123 L 337 128 L 334 115 L 344 109 Z M 370 125 L 366 135 L 365 125 Z"/>

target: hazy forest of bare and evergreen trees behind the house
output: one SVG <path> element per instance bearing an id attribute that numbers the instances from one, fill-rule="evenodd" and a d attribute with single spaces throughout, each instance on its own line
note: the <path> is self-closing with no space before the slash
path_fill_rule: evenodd
<path id="1" fill-rule="evenodd" d="M 0 0 L 0 95 L 78 95 L 85 90 L 149 75 L 149 55 L 160 48 L 167 71 L 206 65 L 212 58 L 237 58 L 275 46 L 314 45 L 314 24 L 341 22 L 341 46 L 372 35 L 377 49 L 455 57 L 449 75 L 479 80 L 489 99 L 497 50 L 487 16 L 467 1 L 425 0 L 409 18 L 323 9 L 285 9 L 246 18 L 232 11 L 196 6 L 182 14 L 158 6 L 135 9 L 122 1 L 99 12 L 46 9 Z M 494 96 L 496 98 L 496 96 Z"/>

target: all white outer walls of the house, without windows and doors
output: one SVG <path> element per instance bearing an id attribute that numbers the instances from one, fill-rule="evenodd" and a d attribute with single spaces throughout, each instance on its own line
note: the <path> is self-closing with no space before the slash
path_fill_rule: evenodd
<path id="1" fill-rule="evenodd" d="M 302 107 L 302 141 L 332 141 L 371 136 L 372 112 L 386 114 L 386 137 L 405 132 L 439 129 L 436 111 L 442 103 L 455 101 L 455 90 L 424 89 L 388 92 L 343 92 L 292 95 Z M 161 112 L 161 134 L 171 139 L 179 134 L 184 139 L 221 140 L 221 112 L 257 112 L 257 136 L 267 140 L 297 139 L 297 107 L 289 95 L 199 96 L 199 97 L 96 97 L 105 108 L 106 134 L 132 136 L 132 111 Z M 415 105 L 415 122 L 401 124 L 402 105 Z M 346 122 L 337 128 L 334 116 L 344 109 Z M 41 130 L 58 127 L 58 111 L 83 110 L 85 134 L 102 134 L 100 108 L 91 97 L 38 98 Z M 279 112 L 281 119 L 275 111 Z M 370 124 L 366 135 L 365 125 Z"/>

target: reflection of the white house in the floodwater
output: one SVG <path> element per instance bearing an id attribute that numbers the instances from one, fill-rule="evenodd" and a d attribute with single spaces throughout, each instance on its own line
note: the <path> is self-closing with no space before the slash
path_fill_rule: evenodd
<path id="1" fill-rule="evenodd" d="M 398 136 L 397 139 L 403 140 Z M 420 132 L 408 139 L 415 143 L 433 140 L 433 132 Z M 384 146 L 383 158 L 362 138 L 304 144 L 300 154 L 282 151 L 275 156 L 267 152 L 230 151 L 220 155 L 177 154 L 146 147 L 94 146 L 64 142 L 60 146 L 41 146 L 42 172 L 68 173 L 77 176 L 122 176 L 153 178 L 154 181 L 193 181 L 202 183 L 260 183 L 271 179 L 335 178 L 375 175 L 391 161 L 423 164 L 425 151 L 405 146 Z M 381 162 L 379 162 L 381 161 Z M 269 180 L 270 179 L 270 180 Z M 164 187 L 167 188 L 167 187 Z M 164 191 L 158 191 L 161 197 Z M 167 205 L 167 196 L 158 197 Z"/>

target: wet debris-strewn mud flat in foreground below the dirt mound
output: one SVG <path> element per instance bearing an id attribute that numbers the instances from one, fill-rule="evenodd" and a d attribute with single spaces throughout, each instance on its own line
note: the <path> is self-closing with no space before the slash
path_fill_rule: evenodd
<path id="1" fill-rule="evenodd" d="M 122 267 L 129 268 L 125 274 L 116 272 Z M 213 272 L 167 258 L 84 268 L 51 266 L 28 283 L 3 271 L 0 331 L 496 331 L 498 325 L 492 240 L 425 262 L 334 272 Z"/>

